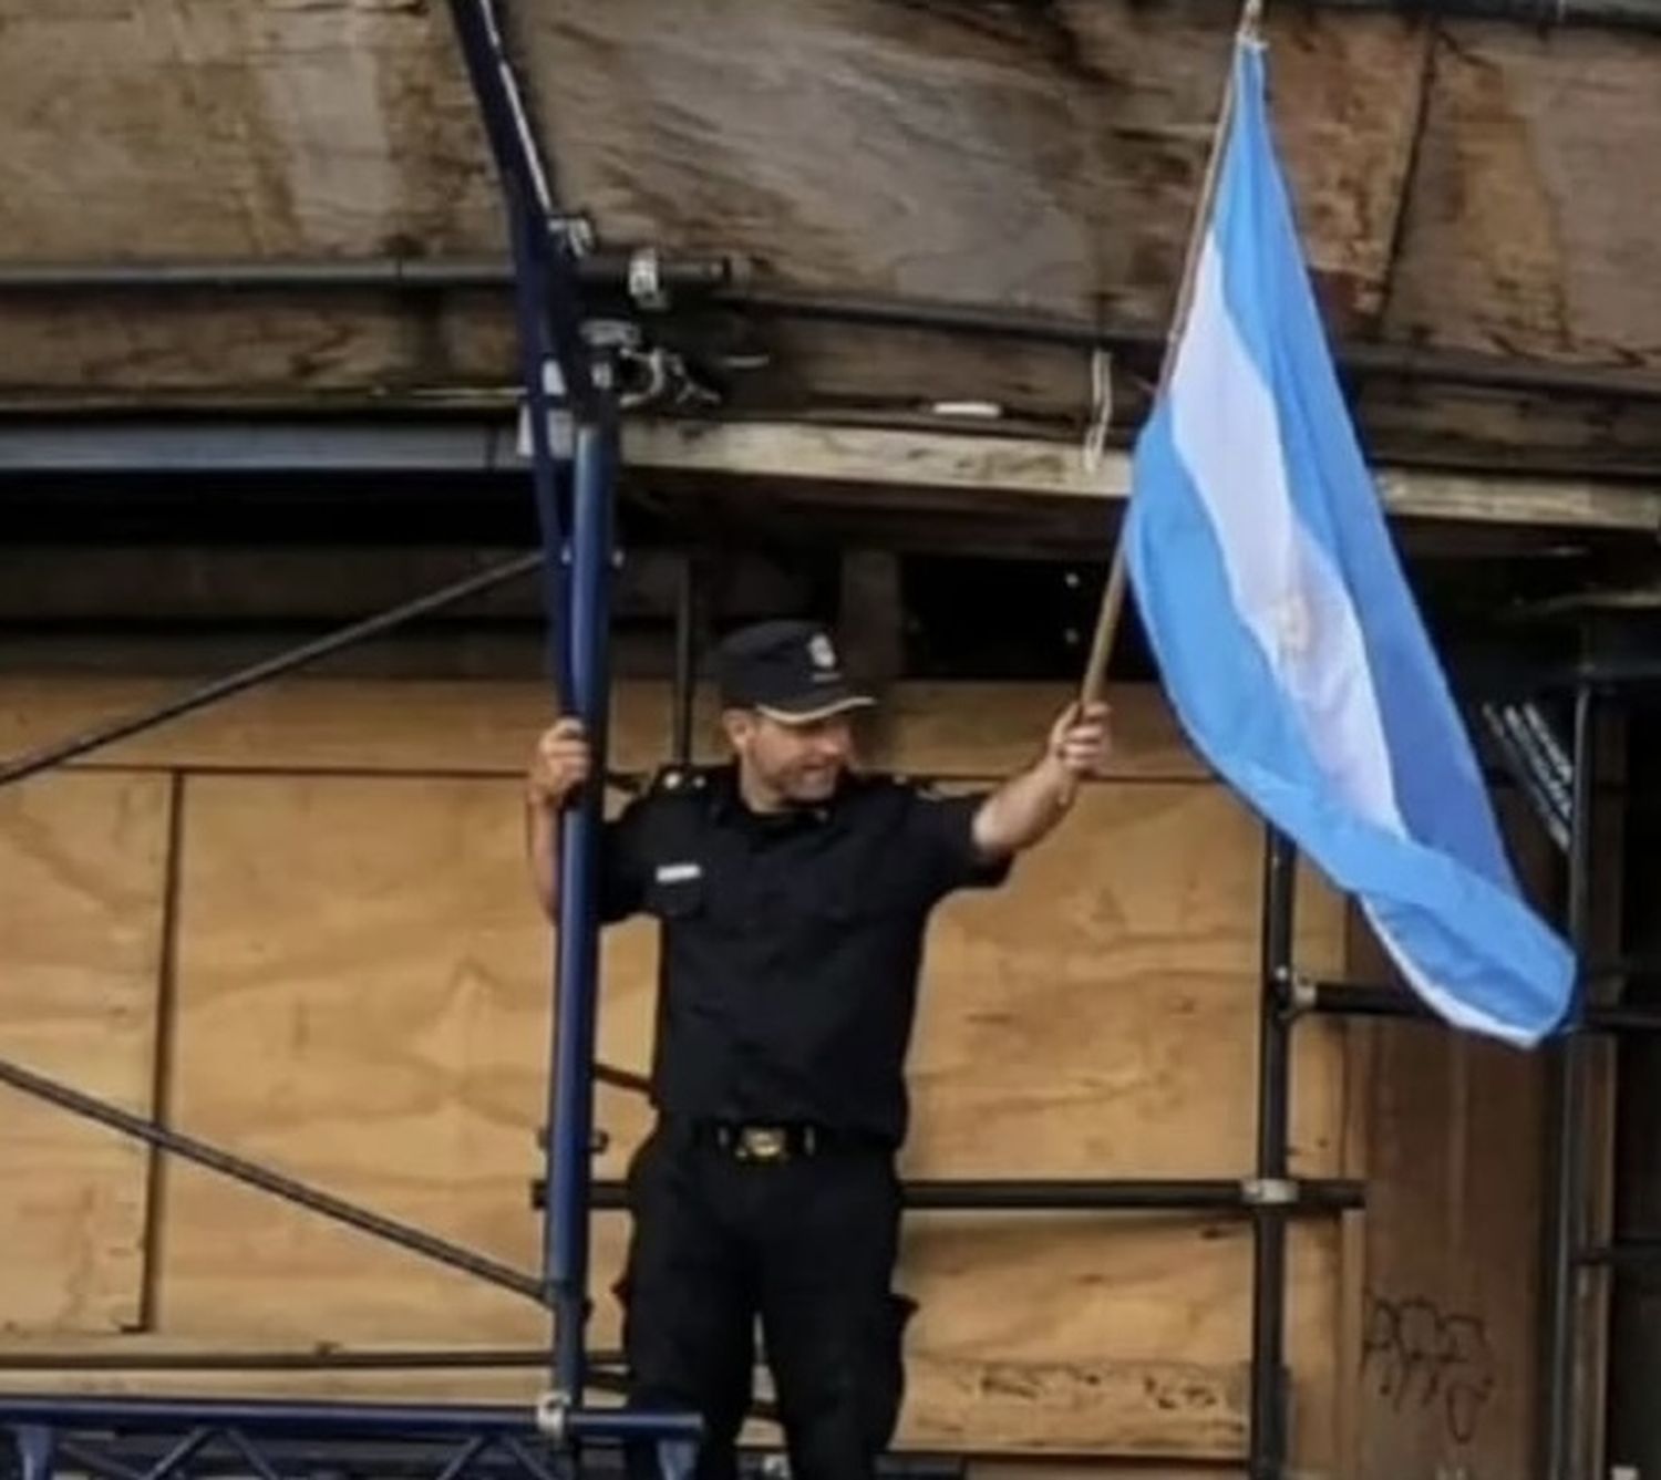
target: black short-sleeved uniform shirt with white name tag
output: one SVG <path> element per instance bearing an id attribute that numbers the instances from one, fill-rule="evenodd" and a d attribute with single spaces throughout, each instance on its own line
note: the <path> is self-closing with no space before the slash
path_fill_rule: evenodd
<path id="1" fill-rule="evenodd" d="M 726 766 L 664 772 L 608 824 L 601 917 L 663 924 L 659 1110 L 897 1143 L 928 910 L 1008 874 L 975 855 L 980 802 L 849 776 L 762 816 Z"/>

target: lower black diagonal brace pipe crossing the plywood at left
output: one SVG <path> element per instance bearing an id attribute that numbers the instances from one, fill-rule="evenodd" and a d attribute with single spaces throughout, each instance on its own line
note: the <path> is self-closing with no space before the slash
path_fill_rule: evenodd
<path id="1" fill-rule="evenodd" d="M 196 1166 L 206 1166 L 209 1171 L 216 1171 L 233 1181 L 259 1188 L 262 1193 L 271 1193 L 276 1198 L 282 1198 L 286 1203 L 294 1203 L 299 1208 L 321 1214 L 322 1218 L 344 1223 L 349 1228 L 355 1228 L 359 1233 L 370 1234 L 372 1237 L 382 1239 L 389 1244 L 397 1244 L 400 1249 L 420 1254 L 425 1259 L 432 1259 L 435 1264 L 447 1264 L 452 1269 L 462 1269 L 475 1279 L 513 1291 L 515 1294 L 525 1296 L 532 1301 L 540 1302 L 543 1299 L 541 1281 L 533 1279 L 523 1271 L 513 1269 L 512 1266 L 502 1264 L 497 1259 L 478 1254 L 472 1249 L 463 1249 L 460 1244 L 452 1244 L 447 1239 L 425 1233 L 424 1229 L 397 1223 L 380 1213 L 359 1208 L 355 1203 L 347 1203 L 344 1198 L 336 1198 L 331 1193 L 319 1191 L 317 1188 L 311 1188 L 294 1178 L 271 1171 L 257 1161 L 234 1156 L 229 1151 L 221 1151 L 218 1146 L 209 1146 L 206 1141 L 198 1141 L 194 1136 L 168 1130 L 166 1126 L 121 1110 L 118 1105 L 110 1105 L 93 1095 L 85 1095 L 80 1090 L 48 1078 L 47 1075 L 27 1070 L 10 1060 L 0 1058 L 0 1083 L 10 1085 L 13 1090 L 20 1090 L 37 1100 L 45 1100 L 48 1105 L 56 1105 L 60 1110 L 66 1110 L 83 1120 L 96 1121 L 98 1125 L 120 1131 L 125 1136 L 133 1136 L 138 1141 L 146 1141 L 148 1144 L 158 1146 L 174 1156 L 183 1156 L 186 1161 L 191 1161 Z"/>

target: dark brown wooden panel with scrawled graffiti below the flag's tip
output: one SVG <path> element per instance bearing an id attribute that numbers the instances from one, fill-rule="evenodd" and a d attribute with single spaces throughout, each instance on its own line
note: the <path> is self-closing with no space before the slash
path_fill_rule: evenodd
<path id="1" fill-rule="evenodd" d="M 1523 887 L 1543 900 L 1548 844 L 1515 794 L 1500 794 L 1498 812 Z M 1399 982 L 1359 922 L 1349 958 L 1355 980 Z M 1432 1023 L 1350 1033 L 1365 1096 L 1352 1135 L 1365 1128 L 1369 1186 L 1359 1342 L 1342 1357 L 1355 1382 L 1354 1473 L 1526 1475 L 1538 1433 L 1543 1060 Z"/>

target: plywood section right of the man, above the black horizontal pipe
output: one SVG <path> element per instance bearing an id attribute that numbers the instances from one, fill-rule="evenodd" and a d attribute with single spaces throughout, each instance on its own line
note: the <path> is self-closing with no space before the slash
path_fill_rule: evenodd
<path id="1" fill-rule="evenodd" d="M 1221 787 L 1106 784 L 935 922 L 914 1163 L 960 1176 L 1236 1176 L 1256 1146 L 1262 832 Z M 1306 872 L 1299 963 L 1342 960 Z M 1294 1164 L 1337 1168 L 1330 1023 L 1296 1036 Z"/>

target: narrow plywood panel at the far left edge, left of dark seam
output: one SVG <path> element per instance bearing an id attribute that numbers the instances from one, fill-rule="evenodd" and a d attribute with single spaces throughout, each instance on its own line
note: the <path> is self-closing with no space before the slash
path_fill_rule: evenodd
<path id="1" fill-rule="evenodd" d="M 149 1113 L 168 782 L 0 794 L 0 1055 Z M 0 1090 L 0 1331 L 140 1319 L 148 1153 Z"/>

